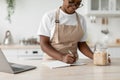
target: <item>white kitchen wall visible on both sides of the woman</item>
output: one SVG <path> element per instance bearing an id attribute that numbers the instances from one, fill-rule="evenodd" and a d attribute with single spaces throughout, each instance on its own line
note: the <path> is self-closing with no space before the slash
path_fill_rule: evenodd
<path id="1" fill-rule="evenodd" d="M 62 0 L 16 0 L 15 13 L 12 16 L 12 23 L 6 20 L 5 0 L 0 0 L 0 43 L 3 42 L 6 30 L 10 30 L 15 43 L 19 40 L 30 37 L 37 37 L 37 29 L 43 14 L 49 10 L 58 8 Z M 104 36 L 101 34 L 103 25 L 101 18 L 96 19 L 96 23 L 91 23 L 87 14 L 87 0 L 83 0 L 84 6 L 77 11 L 85 16 L 87 21 L 88 41 L 95 43 Z M 109 33 L 109 42 L 114 42 L 120 38 L 120 17 L 109 18 L 107 25 Z"/>

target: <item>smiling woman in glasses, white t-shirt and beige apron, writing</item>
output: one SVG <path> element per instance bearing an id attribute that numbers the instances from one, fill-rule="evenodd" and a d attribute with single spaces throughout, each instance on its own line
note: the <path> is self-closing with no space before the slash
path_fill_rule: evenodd
<path id="1" fill-rule="evenodd" d="M 40 23 L 41 49 L 51 58 L 66 63 L 78 59 L 77 48 L 93 59 L 93 53 L 86 44 L 86 24 L 76 10 L 82 0 L 63 0 L 60 8 L 46 13 Z"/>

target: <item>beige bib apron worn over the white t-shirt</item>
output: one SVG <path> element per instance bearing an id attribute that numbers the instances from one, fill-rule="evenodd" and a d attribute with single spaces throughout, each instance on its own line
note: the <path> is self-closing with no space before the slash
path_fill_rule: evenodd
<path id="1" fill-rule="evenodd" d="M 56 12 L 56 26 L 53 34 L 53 38 L 51 39 L 51 45 L 58 51 L 63 54 L 69 53 L 70 50 L 76 57 L 77 54 L 77 43 L 80 41 L 83 36 L 83 30 L 80 24 L 80 20 L 78 14 L 76 13 L 76 19 L 78 24 L 73 25 L 60 25 L 59 24 L 59 11 Z M 49 56 L 45 56 L 47 59 L 52 59 Z"/>

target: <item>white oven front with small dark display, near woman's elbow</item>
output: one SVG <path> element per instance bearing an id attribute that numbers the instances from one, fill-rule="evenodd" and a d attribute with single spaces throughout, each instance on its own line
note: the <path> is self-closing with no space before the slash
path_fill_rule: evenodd
<path id="1" fill-rule="evenodd" d="M 42 59 L 43 53 L 40 49 L 18 49 L 19 59 Z"/>

